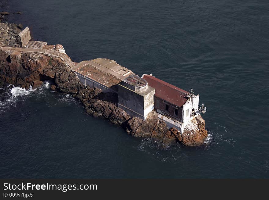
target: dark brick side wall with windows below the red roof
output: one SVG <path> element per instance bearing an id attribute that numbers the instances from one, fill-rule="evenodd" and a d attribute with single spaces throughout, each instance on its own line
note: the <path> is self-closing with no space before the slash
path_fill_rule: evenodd
<path id="1" fill-rule="evenodd" d="M 166 110 L 166 105 L 168 105 L 168 111 Z M 182 107 L 178 107 L 178 114 L 175 113 L 175 105 L 169 102 L 163 101 L 163 99 L 154 96 L 154 108 L 159 109 L 163 113 L 168 114 L 168 116 L 174 117 L 179 122 L 182 122 Z"/>

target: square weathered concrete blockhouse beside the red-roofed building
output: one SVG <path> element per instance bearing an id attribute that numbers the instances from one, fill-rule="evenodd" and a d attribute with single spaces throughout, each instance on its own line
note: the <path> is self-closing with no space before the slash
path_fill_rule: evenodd
<path id="1" fill-rule="evenodd" d="M 154 109 L 155 88 L 148 86 L 146 80 L 137 75 L 130 75 L 118 83 L 119 108 L 130 116 L 146 120 Z"/>

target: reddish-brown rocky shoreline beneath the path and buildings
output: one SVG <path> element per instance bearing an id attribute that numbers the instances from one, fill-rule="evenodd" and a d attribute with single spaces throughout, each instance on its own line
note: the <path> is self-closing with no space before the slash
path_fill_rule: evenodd
<path id="1" fill-rule="evenodd" d="M 16 41 L 16 34 L 13 35 L 12 32 L 19 33 L 17 26 L 0 23 L 1 33 L 4 29 L 5 34 L 0 34 L 1 46 L 13 44 L 13 40 Z M 12 41 L 6 39 L 6 34 L 9 33 L 12 35 L 10 38 L 14 38 Z M 50 48 L 52 47 L 63 51 L 61 45 L 50 45 Z M 183 134 L 175 128 L 168 129 L 166 123 L 158 119 L 155 110 L 149 113 L 146 121 L 130 117 L 125 111 L 118 108 L 115 95 L 104 94 L 98 88 L 83 85 L 76 73 L 72 72 L 60 58 L 47 55 L 37 58 L 31 56 L 31 53 L 22 52 L 20 63 L 11 63 L 9 54 L 4 51 L 0 52 L 0 87 L 5 84 L 13 84 L 22 88 L 37 88 L 45 80 L 53 83 L 52 90 L 64 94 L 69 93 L 79 99 L 87 114 L 108 119 L 111 123 L 123 127 L 131 136 L 156 138 L 164 144 L 180 142 L 186 146 L 203 145 L 208 136 L 207 130 L 205 130 L 205 120 L 200 115 L 190 121 Z"/>

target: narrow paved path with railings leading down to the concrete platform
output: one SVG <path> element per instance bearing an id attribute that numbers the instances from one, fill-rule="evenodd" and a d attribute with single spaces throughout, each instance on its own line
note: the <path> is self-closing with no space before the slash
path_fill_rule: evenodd
<path id="1" fill-rule="evenodd" d="M 75 62 L 67 55 L 61 52 L 51 51 L 42 48 L 17 48 L 17 47 L 1 47 L 0 50 L 5 52 L 13 52 L 13 51 L 20 51 L 20 52 L 33 52 L 33 53 L 42 53 L 45 55 L 50 55 L 54 57 L 61 58 L 65 64 L 72 68 L 75 66 Z"/>

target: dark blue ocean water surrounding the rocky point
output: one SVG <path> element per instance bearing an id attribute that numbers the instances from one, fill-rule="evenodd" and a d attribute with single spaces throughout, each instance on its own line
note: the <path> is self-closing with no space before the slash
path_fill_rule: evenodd
<path id="1" fill-rule="evenodd" d="M 211 135 L 186 148 L 132 138 L 52 92 L 0 102 L 0 178 L 269 178 L 268 1 L 16 0 L 2 9 L 76 62 L 109 58 L 200 94 Z"/>

